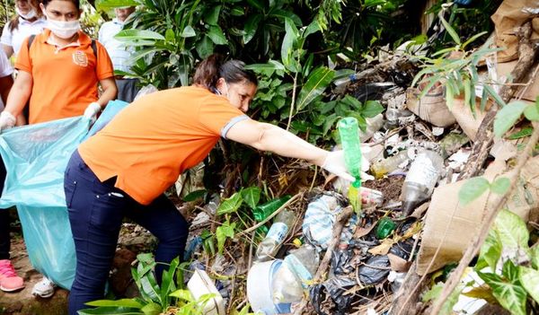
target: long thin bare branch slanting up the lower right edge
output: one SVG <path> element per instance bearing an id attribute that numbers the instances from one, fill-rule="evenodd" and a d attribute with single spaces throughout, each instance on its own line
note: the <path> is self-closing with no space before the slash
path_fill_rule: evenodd
<path id="1" fill-rule="evenodd" d="M 437 299 L 432 308 L 431 314 L 437 314 L 442 308 L 444 302 L 446 302 L 449 295 L 455 290 L 456 285 L 459 283 L 461 277 L 464 275 L 465 268 L 468 267 L 473 257 L 475 257 L 479 249 L 481 249 L 482 243 L 487 238 L 490 225 L 496 219 L 496 215 L 499 213 L 499 209 L 506 204 L 510 193 L 515 189 L 517 179 L 520 176 L 520 171 L 522 171 L 522 168 L 524 167 L 529 157 L 531 156 L 531 153 L 535 149 L 535 144 L 537 144 L 537 141 L 539 140 L 539 123 L 533 122 L 533 126 L 534 133 L 526 144 L 524 153 L 520 154 L 517 157 L 517 166 L 515 167 L 514 171 L 512 171 L 511 176 L 509 176 L 511 181 L 510 188 L 502 197 L 496 196 L 498 199 L 495 204 L 496 206 L 494 206 L 492 210 L 490 210 L 490 212 L 485 215 L 485 219 L 483 220 L 480 231 L 473 237 L 473 240 L 464 252 L 463 258 L 461 258 L 458 267 L 456 267 L 455 270 L 451 273 L 451 276 L 449 276 L 449 279 L 447 280 L 446 285 L 444 285 L 444 289 L 440 294 L 440 297 Z"/>

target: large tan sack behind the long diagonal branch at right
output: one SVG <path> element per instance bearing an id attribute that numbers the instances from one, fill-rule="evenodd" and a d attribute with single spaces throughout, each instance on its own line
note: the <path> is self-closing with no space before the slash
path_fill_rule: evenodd
<path id="1" fill-rule="evenodd" d="M 490 164 L 484 177 L 491 181 L 504 170 L 505 162 L 497 160 Z M 494 198 L 487 199 L 487 193 L 467 206 L 460 205 L 458 192 L 464 182 L 461 180 L 436 188 L 432 195 L 418 254 L 418 274 L 420 275 L 437 270 L 448 263 L 458 262 L 481 226 L 485 206 L 494 206 Z M 539 157 L 530 159 L 526 163 L 518 180 L 517 189 L 508 198 L 506 207 L 526 222 L 536 219 L 539 214 Z M 440 242 L 442 246 L 432 267 L 428 269 Z"/>

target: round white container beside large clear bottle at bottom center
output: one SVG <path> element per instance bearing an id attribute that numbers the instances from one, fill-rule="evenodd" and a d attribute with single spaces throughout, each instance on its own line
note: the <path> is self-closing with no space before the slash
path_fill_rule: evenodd
<path id="1" fill-rule="evenodd" d="M 273 275 L 282 264 L 282 260 L 270 260 L 252 265 L 247 275 L 247 299 L 252 311 L 257 314 L 274 315 L 290 312 L 289 303 L 273 302 Z"/>

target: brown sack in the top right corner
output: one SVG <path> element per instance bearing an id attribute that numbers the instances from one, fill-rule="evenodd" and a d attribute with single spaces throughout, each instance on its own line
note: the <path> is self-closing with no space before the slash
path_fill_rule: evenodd
<path id="1" fill-rule="evenodd" d="M 498 62 L 517 59 L 518 39 L 515 30 L 535 17 L 526 8 L 536 9 L 537 7 L 539 7 L 539 1 L 537 0 L 505 0 L 499 5 L 498 10 L 490 16 L 490 19 L 494 22 L 496 45 L 499 48 L 506 48 L 498 53 Z M 535 18 L 532 39 L 539 39 L 539 27 L 537 24 L 539 22 Z"/>

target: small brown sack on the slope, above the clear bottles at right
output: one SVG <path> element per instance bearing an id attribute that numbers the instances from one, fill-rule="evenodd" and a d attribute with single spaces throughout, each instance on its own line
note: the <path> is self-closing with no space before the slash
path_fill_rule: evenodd
<path id="1" fill-rule="evenodd" d="M 437 127 L 448 127 L 455 124 L 455 117 L 447 109 L 442 86 L 425 94 L 421 99 L 419 99 L 420 94 L 420 90 L 416 88 L 406 90 L 406 107 L 411 112 Z"/>

